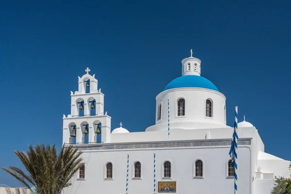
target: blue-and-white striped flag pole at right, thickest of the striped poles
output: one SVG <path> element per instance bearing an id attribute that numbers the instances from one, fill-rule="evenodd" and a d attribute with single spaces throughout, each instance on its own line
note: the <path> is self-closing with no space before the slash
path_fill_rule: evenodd
<path id="1" fill-rule="evenodd" d="M 238 107 L 235 107 L 235 120 L 234 120 L 234 129 L 232 134 L 231 147 L 229 150 L 229 156 L 233 162 L 234 167 L 234 194 L 238 192 Z"/>

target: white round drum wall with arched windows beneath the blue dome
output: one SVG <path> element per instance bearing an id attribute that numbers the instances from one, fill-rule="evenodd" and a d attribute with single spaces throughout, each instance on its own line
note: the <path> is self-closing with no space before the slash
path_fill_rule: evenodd
<path id="1" fill-rule="evenodd" d="M 185 99 L 185 116 L 178 116 L 178 99 Z M 226 97 L 220 92 L 204 88 L 176 88 L 163 91 L 156 97 L 156 124 L 168 122 L 168 99 L 170 104 L 170 122 L 179 122 L 181 127 L 186 128 L 182 123 L 197 122 L 200 125 L 192 125 L 190 129 L 222 128 L 226 127 L 224 106 Z M 206 100 L 212 101 L 212 117 L 206 116 Z M 162 118 L 158 119 L 159 104 L 162 103 Z M 202 124 L 212 124 L 205 125 Z M 213 126 L 216 125 L 216 126 Z M 151 126 L 148 130 L 160 130 L 158 126 Z"/>

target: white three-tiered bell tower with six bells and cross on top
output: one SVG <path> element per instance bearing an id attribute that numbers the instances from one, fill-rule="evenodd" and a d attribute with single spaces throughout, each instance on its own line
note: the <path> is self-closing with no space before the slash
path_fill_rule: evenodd
<path id="1" fill-rule="evenodd" d="M 111 117 L 104 113 L 104 94 L 90 71 L 87 67 L 86 74 L 78 77 L 78 91 L 71 91 L 71 113 L 63 117 L 63 144 L 110 142 Z"/>

